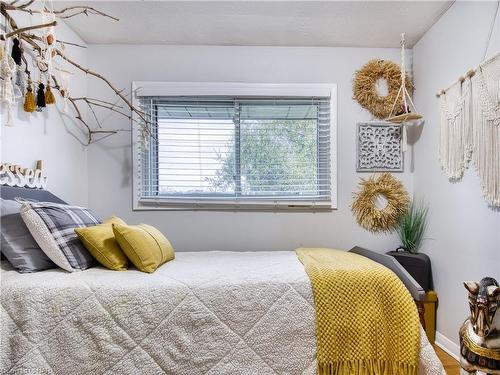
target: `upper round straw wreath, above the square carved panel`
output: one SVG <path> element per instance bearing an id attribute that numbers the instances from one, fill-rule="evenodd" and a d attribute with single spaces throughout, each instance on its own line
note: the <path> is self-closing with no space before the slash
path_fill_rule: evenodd
<path id="1" fill-rule="evenodd" d="M 387 82 L 388 94 L 380 96 L 377 92 L 376 82 L 384 79 Z M 370 60 L 360 70 L 356 72 L 352 86 L 354 99 L 375 117 L 379 119 L 387 118 L 398 96 L 401 87 L 401 69 L 392 61 Z M 406 89 L 411 90 L 412 83 L 406 77 Z M 402 95 L 395 105 L 396 112 L 402 108 Z"/>

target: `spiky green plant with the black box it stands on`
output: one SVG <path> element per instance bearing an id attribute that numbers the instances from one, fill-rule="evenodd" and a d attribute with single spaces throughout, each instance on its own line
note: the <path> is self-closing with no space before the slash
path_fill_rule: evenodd
<path id="1" fill-rule="evenodd" d="M 423 202 L 413 200 L 410 203 L 396 227 L 401 245 L 396 251 L 387 253 L 396 258 L 425 291 L 432 289 L 431 261 L 426 254 L 418 251 L 427 229 L 428 211 Z"/>

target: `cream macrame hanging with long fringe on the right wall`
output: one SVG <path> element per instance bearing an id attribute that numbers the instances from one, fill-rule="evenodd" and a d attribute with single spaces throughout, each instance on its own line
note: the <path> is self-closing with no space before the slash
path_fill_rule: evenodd
<path id="1" fill-rule="evenodd" d="M 486 56 L 500 1 L 493 18 Z M 437 93 L 441 108 L 439 160 L 450 180 L 460 180 L 472 160 L 488 205 L 500 207 L 500 53 Z"/>

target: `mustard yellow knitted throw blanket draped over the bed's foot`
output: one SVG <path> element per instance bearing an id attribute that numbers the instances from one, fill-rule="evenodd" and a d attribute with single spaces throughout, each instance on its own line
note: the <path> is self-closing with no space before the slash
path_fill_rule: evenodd
<path id="1" fill-rule="evenodd" d="M 295 251 L 314 292 L 319 375 L 416 375 L 420 322 L 401 280 L 361 255 Z"/>

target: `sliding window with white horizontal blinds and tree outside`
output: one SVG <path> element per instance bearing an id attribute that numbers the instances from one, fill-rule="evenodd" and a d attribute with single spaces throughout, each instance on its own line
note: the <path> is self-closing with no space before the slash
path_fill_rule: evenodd
<path id="1" fill-rule="evenodd" d="M 152 128 L 136 142 L 135 208 L 332 208 L 331 95 L 138 100 Z"/>

